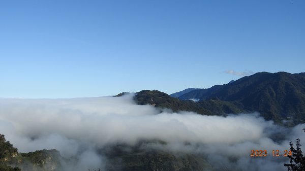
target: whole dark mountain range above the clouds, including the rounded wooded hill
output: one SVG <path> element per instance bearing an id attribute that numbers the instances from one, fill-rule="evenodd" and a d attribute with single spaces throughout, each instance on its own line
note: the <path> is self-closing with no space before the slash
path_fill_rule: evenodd
<path id="1" fill-rule="evenodd" d="M 305 123 L 305 73 L 261 72 L 228 84 L 186 91 L 170 96 L 157 90 L 142 90 L 134 98 L 139 105 L 150 104 L 174 112 L 193 111 L 204 115 L 259 112 L 266 120 L 276 123 L 291 126 Z M 177 94 L 182 95 L 172 97 Z"/>

